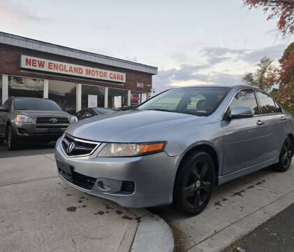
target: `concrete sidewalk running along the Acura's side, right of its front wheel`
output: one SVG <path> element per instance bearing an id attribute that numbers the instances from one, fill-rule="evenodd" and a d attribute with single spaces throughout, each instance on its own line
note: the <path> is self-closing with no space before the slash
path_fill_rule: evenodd
<path id="1" fill-rule="evenodd" d="M 294 162 L 288 172 L 265 168 L 216 187 L 198 216 L 186 217 L 170 207 L 152 212 L 172 227 L 178 251 L 222 251 L 258 225 L 294 203 Z"/>

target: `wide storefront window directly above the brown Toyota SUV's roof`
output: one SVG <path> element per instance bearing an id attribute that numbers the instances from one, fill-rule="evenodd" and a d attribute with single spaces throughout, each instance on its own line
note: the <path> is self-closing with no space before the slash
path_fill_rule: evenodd
<path id="1" fill-rule="evenodd" d="M 8 76 L 8 97 L 43 98 L 43 90 L 44 80 L 42 79 Z"/>

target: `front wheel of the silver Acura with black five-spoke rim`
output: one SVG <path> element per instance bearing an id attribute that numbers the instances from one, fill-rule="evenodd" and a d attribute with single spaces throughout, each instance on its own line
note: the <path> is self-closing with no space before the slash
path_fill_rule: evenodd
<path id="1" fill-rule="evenodd" d="M 186 216 L 199 214 L 210 201 L 215 185 L 215 167 L 204 151 L 191 153 L 179 166 L 172 206 Z"/>

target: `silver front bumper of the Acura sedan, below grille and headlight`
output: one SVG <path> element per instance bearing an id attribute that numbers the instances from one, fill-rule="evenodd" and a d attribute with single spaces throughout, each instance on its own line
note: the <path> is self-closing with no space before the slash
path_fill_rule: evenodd
<path id="1" fill-rule="evenodd" d="M 98 158 L 103 146 L 90 156 L 68 158 L 61 146 L 61 139 L 55 146 L 55 158 L 73 167 L 73 171 L 95 179 L 93 188 L 87 190 L 71 183 L 57 173 L 69 186 L 89 195 L 117 202 L 122 207 L 155 207 L 172 202 L 172 191 L 179 157 L 169 157 L 165 152 L 133 158 Z M 106 181 L 109 191 L 102 190 L 98 183 Z M 133 193 L 119 193 L 122 181 L 133 181 Z"/>

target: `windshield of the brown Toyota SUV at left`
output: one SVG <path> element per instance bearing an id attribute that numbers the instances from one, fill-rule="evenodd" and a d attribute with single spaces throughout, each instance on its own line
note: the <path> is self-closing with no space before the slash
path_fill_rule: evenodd
<path id="1" fill-rule="evenodd" d="M 14 99 L 13 107 L 15 110 L 61 111 L 55 102 L 47 99 Z"/>

